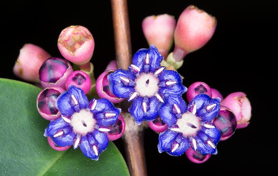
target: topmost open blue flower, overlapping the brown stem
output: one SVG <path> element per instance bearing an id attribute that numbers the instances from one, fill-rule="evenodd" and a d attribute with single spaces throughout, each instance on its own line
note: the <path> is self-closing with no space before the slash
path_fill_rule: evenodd
<path id="1" fill-rule="evenodd" d="M 129 70 L 118 69 L 108 75 L 109 88 L 119 98 L 133 102 L 129 112 L 138 125 L 158 116 L 158 106 L 169 95 L 183 94 L 187 88 L 177 71 L 160 67 L 163 60 L 158 49 L 140 49 L 133 55 Z"/>

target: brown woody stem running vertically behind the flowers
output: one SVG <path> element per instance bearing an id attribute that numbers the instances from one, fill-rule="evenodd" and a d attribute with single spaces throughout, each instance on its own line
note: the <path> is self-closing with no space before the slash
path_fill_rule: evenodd
<path id="1" fill-rule="evenodd" d="M 127 69 L 131 64 L 131 39 L 127 0 L 111 0 L 117 67 Z M 127 166 L 131 176 L 146 176 L 147 167 L 143 145 L 145 123 L 137 125 L 128 112 L 130 103 L 126 100 L 119 104 L 126 127 L 122 139 L 125 143 Z"/>

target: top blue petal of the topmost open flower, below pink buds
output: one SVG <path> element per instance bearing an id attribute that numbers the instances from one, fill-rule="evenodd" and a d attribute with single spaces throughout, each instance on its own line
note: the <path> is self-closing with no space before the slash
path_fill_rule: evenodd
<path id="1" fill-rule="evenodd" d="M 154 70 L 156 68 L 160 67 L 160 63 L 163 60 L 163 56 L 158 52 L 158 49 L 154 45 L 151 45 L 149 47 L 149 49 L 143 48 L 143 49 L 138 50 L 133 55 L 132 64 L 139 67 L 140 73 L 142 73 L 144 71 L 143 62 L 145 60 L 147 53 L 149 54 L 149 58 L 150 58 L 149 71 L 151 73 L 154 73 Z"/>

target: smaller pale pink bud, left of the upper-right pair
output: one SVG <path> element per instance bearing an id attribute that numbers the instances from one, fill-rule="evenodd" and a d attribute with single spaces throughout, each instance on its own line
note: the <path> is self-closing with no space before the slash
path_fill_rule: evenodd
<path id="1" fill-rule="evenodd" d="M 176 20 L 168 14 L 152 15 L 142 21 L 142 29 L 149 45 L 154 44 L 163 57 L 173 45 Z"/>

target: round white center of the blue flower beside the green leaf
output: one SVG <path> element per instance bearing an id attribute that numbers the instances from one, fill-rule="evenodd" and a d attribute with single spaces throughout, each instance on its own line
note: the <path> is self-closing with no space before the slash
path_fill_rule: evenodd
<path id="1" fill-rule="evenodd" d="M 83 135 L 92 132 L 95 124 L 95 119 L 90 111 L 81 109 L 79 113 L 75 112 L 72 114 L 70 125 L 76 133 L 79 132 Z"/>

